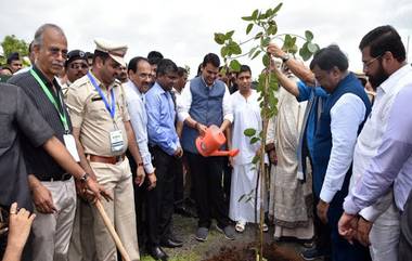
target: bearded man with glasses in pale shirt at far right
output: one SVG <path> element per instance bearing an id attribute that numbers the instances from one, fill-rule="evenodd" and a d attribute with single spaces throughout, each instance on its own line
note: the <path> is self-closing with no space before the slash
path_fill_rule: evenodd
<path id="1" fill-rule="evenodd" d="M 402 198 L 397 197 L 397 192 L 402 192 L 398 195 L 403 195 L 403 198 L 408 197 L 408 192 L 397 186 L 401 178 L 395 181 L 395 185 L 392 181 L 395 178 L 389 178 L 391 174 L 398 174 L 391 172 L 401 158 L 400 155 L 394 155 L 390 147 L 395 145 L 394 148 L 398 154 L 408 155 L 408 149 L 404 151 L 408 147 L 405 145 L 408 135 L 400 135 L 401 138 L 398 135 L 410 132 L 408 120 L 401 119 L 400 116 L 404 114 L 403 109 L 408 109 L 408 105 L 402 104 L 404 99 L 401 95 L 408 95 L 404 91 L 412 84 L 412 69 L 405 62 L 405 49 L 401 38 L 391 26 L 373 29 L 363 37 L 359 48 L 362 52 L 363 71 L 372 87 L 376 88 L 376 96 L 372 113 L 355 148 L 351 190 L 345 199 L 345 213 L 342 220 L 348 220 L 348 217 L 359 212 L 361 218 L 355 219 L 358 222 L 353 222 L 357 223 L 356 237 L 364 245 L 371 244 L 372 259 L 398 260 L 399 221 L 403 204 L 397 207 L 400 200 L 396 199 Z M 401 112 L 397 112 L 397 107 L 400 107 Z M 397 120 L 400 121 L 395 123 Z M 390 158 L 394 156 L 397 160 Z M 401 165 L 399 175 L 408 173 L 408 177 L 411 165 L 403 161 Z M 368 180 L 373 180 L 374 184 L 370 185 Z M 387 182 L 389 183 L 385 184 Z M 408 181 L 402 180 L 401 183 L 408 187 Z M 376 192 L 381 194 L 378 197 Z M 373 205 L 371 198 L 374 198 Z M 343 223 L 339 227 L 340 234 L 345 234 L 343 233 L 345 224 L 340 223 Z"/>

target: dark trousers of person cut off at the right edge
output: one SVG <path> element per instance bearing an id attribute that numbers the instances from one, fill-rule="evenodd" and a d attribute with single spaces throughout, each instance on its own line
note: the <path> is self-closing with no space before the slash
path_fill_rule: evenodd
<path id="1" fill-rule="evenodd" d="M 412 191 L 400 218 L 399 261 L 412 260 Z"/>

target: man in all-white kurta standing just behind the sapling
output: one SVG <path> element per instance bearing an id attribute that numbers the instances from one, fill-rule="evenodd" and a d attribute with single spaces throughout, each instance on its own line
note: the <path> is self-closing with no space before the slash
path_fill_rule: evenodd
<path id="1" fill-rule="evenodd" d="M 255 222 L 257 171 L 252 160 L 260 147 L 260 142 L 250 144 L 250 138 L 244 134 L 244 130 L 252 128 L 259 133 L 262 127 L 259 95 L 252 90 L 252 71 L 247 65 L 242 65 L 240 73 L 236 74 L 236 81 L 239 91 L 231 95 L 234 120 L 229 146 L 239 148 L 241 152 L 231 158 L 233 173 L 229 217 L 236 221 L 236 231 L 243 232 L 246 222 Z M 252 197 L 250 200 L 248 200 L 249 197 Z M 259 201 L 257 209 L 260 209 Z M 259 220 L 259 211 L 256 211 L 256 214 Z"/>

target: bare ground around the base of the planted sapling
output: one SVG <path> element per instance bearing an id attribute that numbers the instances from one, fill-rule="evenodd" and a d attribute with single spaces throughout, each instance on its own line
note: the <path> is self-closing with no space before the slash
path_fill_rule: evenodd
<path id="1" fill-rule="evenodd" d="M 169 261 L 256 261 L 255 240 L 256 225 L 247 224 L 242 234 L 236 234 L 235 240 L 228 240 L 224 235 L 211 225 L 207 242 L 199 243 L 194 238 L 197 220 L 173 216 L 173 231 L 183 240 L 181 248 L 164 248 L 170 257 Z M 263 258 L 267 261 L 301 261 L 299 252 L 302 246 L 295 242 L 274 242 L 273 230 L 265 233 L 266 246 Z M 152 261 L 150 256 L 143 256 L 143 261 Z"/>

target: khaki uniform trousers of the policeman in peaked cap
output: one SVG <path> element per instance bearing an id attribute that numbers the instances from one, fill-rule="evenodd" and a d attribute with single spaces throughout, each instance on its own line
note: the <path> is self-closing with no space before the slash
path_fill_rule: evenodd
<path id="1" fill-rule="evenodd" d="M 126 251 L 132 261 L 139 260 L 138 234 L 134 212 L 134 193 L 127 158 L 117 165 L 90 162 L 98 182 L 113 196 L 113 201 L 102 200 Z M 96 208 L 93 209 L 93 232 L 99 261 L 117 261 L 116 245 Z"/>

